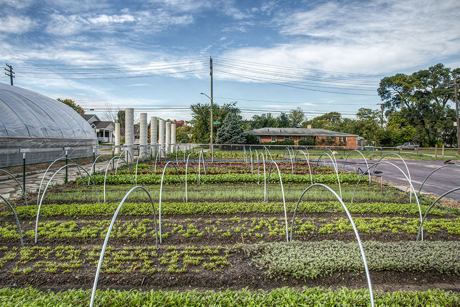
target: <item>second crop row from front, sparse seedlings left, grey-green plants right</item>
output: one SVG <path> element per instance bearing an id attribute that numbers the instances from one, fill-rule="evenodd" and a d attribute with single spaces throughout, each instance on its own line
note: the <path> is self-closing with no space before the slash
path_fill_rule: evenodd
<path id="1" fill-rule="evenodd" d="M 363 248 L 367 265 L 372 271 L 460 274 L 458 242 L 368 241 L 363 243 Z M 291 244 L 259 243 L 245 247 L 241 244 L 234 247 L 168 246 L 158 250 L 154 246 L 108 247 L 102 269 L 111 274 L 194 274 L 209 270 L 222 273 L 237 269 L 235 261 L 241 261 L 243 252 L 246 252 L 249 264 L 262 270 L 269 278 L 292 276 L 307 280 L 333 273 L 364 271 L 357 243 L 331 240 Z M 28 275 L 92 271 L 97 266 L 99 255 L 98 246 L 2 247 L 0 272 L 3 275 Z"/>

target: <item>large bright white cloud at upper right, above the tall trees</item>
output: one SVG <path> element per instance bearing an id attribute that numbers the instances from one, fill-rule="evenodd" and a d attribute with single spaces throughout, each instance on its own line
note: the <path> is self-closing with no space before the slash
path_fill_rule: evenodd
<path id="1" fill-rule="evenodd" d="M 277 17 L 290 42 L 241 48 L 234 59 L 289 67 L 386 74 L 458 54 L 457 1 L 327 2 Z"/>

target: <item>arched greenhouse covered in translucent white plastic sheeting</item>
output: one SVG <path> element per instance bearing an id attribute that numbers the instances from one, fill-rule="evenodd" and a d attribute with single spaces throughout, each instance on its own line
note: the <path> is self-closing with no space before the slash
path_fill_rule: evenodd
<path id="1" fill-rule="evenodd" d="M 87 157 L 97 144 L 93 128 L 71 107 L 0 83 L 0 167 L 22 164 L 20 149 L 30 149 L 31 164 L 65 156 L 64 147 L 87 147 L 73 148 L 72 158 Z"/>

